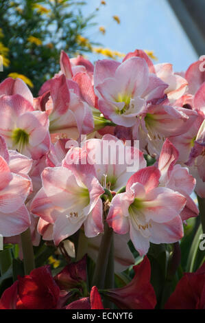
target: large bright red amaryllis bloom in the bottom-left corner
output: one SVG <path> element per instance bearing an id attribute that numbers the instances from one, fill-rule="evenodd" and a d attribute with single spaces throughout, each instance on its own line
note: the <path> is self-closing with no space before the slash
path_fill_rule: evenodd
<path id="1" fill-rule="evenodd" d="M 49 266 L 20 277 L 1 296 L 0 309 L 60 309 L 67 300 L 51 276 Z"/>

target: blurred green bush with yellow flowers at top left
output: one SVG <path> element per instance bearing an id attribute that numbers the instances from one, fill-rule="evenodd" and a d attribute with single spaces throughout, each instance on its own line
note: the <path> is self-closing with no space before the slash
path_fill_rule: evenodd
<path id="1" fill-rule="evenodd" d="M 85 4 L 72 0 L 1 0 L 0 54 L 5 66 L 0 80 L 10 73 L 23 74 L 32 81 L 36 95 L 43 82 L 59 71 L 61 49 L 70 56 L 91 52 L 94 43 L 83 35 L 94 25 L 95 14 L 84 17 L 80 8 Z"/>

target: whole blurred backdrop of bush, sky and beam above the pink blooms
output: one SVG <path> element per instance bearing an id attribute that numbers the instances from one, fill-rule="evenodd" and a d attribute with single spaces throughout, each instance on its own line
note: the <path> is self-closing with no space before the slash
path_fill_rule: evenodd
<path id="1" fill-rule="evenodd" d="M 205 54 L 204 12 L 204 0 L 1 0 L 0 80 L 23 78 L 36 95 L 61 49 L 92 62 L 146 49 L 184 71 Z"/>

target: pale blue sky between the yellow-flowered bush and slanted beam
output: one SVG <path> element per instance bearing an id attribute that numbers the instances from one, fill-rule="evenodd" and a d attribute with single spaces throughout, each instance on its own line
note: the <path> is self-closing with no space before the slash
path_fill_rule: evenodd
<path id="1" fill-rule="evenodd" d="M 87 2 L 83 8 L 85 14 L 93 12 L 100 0 Z M 120 25 L 112 19 L 113 15 L 119 16 Z M 197 60 L 197 54 L 166 0 L 106 0 L 95 21 L 106 28 L 106 34 L 101 34 L 95 26 L 88 31 L 88 36 L 104 47 L 123 53 L 136 48 L 153 50 L 158 57 L 156 63 L 172 63 L 175 71 L 186 70 Z M 93 54 L 88 57 L 91 60 L 101 58 Z"/>

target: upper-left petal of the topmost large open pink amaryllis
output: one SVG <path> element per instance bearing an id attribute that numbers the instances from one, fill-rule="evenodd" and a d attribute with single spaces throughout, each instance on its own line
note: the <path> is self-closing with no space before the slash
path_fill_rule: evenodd
<path id="1" fill-rule="evenodd" d="M 113 78 L 114 73 L 120 63 L 116 60 L 97 60 L 94 69 L 94 84 L 95 87 L 104 82 L 106 78 Z"/>

